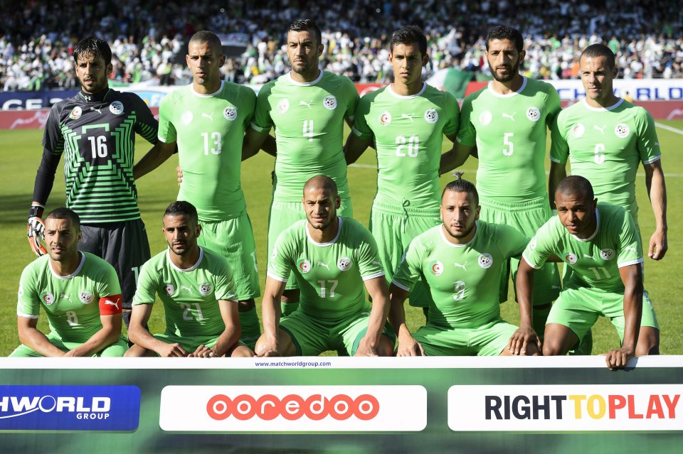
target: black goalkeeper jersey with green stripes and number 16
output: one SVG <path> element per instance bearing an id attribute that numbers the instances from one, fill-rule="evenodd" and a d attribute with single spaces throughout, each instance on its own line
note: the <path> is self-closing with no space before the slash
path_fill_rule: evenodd
<path id="1" fill-rule="evenodd" d="M 135 133 L 156 144 L 158 129 L 149 107 L 134 93 L 107 89 L 63 99 L 52 107 L 45 125 L 45 151 L 33 200 L 46 202 L 52 185 L 47 182 L 46 188 L 42 180 L 50 171 L 54 175 L 64 153 L 66 206 L 81 222 L 139 219 L 133 178 Z"/>

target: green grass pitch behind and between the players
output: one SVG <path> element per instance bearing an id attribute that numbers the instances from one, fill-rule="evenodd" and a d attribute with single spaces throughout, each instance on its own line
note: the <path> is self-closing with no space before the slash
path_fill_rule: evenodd
<path id="1" fill-rule="evenodd" d="M 683 130 L 683 121 L 658 121 L 676 129 Z M 347 131 L 348 132 L 348 131 Z M 665 153 L 662 160 L 667 174 L 667 191 L 669 196 L 669 252 L 663 261 L 655 262 L 646 259 L 645 287 L 655 303 L 657 315 L 662 328 L 661 350 L 664 354 L 683 354 L 683 286 L 677 278 L 677 266 L 683 259 L 682 234 L 679 228 L 683 220 L 683 156 L 679 156 L 682 134 L 665 129 L 657 129 L 660 144 Z M 683 133 L 683 131 L 682 131 Z M 18 345 L 16 333 L 16 291 L 19 275 L 29 261 L 33 259 L 26 242 L 26 213 L 31 203 L 33 180 L 41 158 L 42 131 L 0 131 L 0 237 L 4 239 L 4 261 L 0 266 L 0 356 L 9 353 Z M 137 144 L 137 158 L 146 152 L 149 144 L 140 140 Z M 450 148 L 445 141 L 444 150 Z M 255 229 L 258 263 L 263 288 L 265 282 L 265 258 L 267 242 L 268 206 L 270 205 L 273 159 L 265 153 L 243 163 L 242 185 L 245 190 L 249 215 Z M 369 149 L 359 159 L 358 165 L 349 168 L 349 186 L 354 203 L 356 218 L 367 223 L 371 200 L 376 190 L 376 168 L 374 151 Z M 147 225 L 149 243 L 152 254 L 161 251 L 166 245 L 161 232 L 161 216 L 164 209 L 173 201 L 177 193 L 176 174 L 174 168 L 176 158 L 171 158 L 164 166 L 154 171 L 138 183 L 139 205 L 142 217 Z M 465 163 L 465 178 L 474 180 L 477 161 L 471 159 Z M 442 177 L 442 187 L 450 177 Z M 511 183 L 514 184 L 514 183 Z M 48 210 L 63 204 L 63 174 L 61 167 L 55 178 L 55 187 L 48 201 Z M 640 202 L 640 225 L 645 241 L 649 241 L 654 227 L 652 210 L 645 193 L 645 179 L 642 170 L 637 178 L 637 198 Z M 260 300 L 257 301 L 260 313 Z M 406 304 L 407 307 L 407 304 Z M 519 315 L 514 302 L 504 303 L 503 317 L 517 323 Z M 408 326 L 418 328 L 424 321 L 421 310 L 408 308 Z M 162 308 L 155 308 L 152 330 L 163 330 Z M 39 328 L 47 330 L 46 318 L 43 316 Z M 594 329 L 594 352 L 605 352 L 618 345 L 618 336 L 608 320 L 601 319 Z"/>

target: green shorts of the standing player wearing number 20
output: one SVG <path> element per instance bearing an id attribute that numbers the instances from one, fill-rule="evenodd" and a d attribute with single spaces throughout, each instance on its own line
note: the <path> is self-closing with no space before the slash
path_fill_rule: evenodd
<path id="1" fill-rule="evenodd" d="M 398 264 L 401 263 L 403 254 L 413 238 L 440 223 L 438 210 L 420 210 L 409 207 L 401 209 L 375 198 L 370 212 L 369 229 L 377 242 L 388 283 L 391 283 Z M 420 279 L 411 291 L 410 305 L 428 308 L 430 301 L 432 301 L 432 296 L 429 287 Z"/>

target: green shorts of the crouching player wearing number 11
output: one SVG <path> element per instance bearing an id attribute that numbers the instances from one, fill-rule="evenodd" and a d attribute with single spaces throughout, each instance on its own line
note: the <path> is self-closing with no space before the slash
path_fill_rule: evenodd
<path id="1" fill-rule="evenodd" d="M 595 288 L 568 286 L 560 292 L 548 315 L 546 323 L 564 325 L 583 339 L 598 320 L 598 316 L 608 317 L 619 333 L 620 340 L 624 340 L 624 294 L 602 291 Z M 647 296 L 642 294 L 642 317 L 640 326 L 650 326 L 660 329 L 657 323 L 655 308 Z"/>

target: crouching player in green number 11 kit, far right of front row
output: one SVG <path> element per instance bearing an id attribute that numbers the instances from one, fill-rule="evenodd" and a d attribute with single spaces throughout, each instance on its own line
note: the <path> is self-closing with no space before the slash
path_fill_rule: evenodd
<path id="1" fill-rule="evenodd" d="M 660 330 L 652 302 L 642 292 L 642 245 L 623 207 L 599 203 L 591 183 L 564 178 L 555 191 L 558 215 L 543 225 L 524 250 L 517 275 L 519 306 L 531 304 L 534 271 L 553 255 L 572 269 L 548 316 L 544 355 L 565 355 L 609 317 L 622 345 L 607 353 L 607 367 L 624 367 L 634 355 L 659 354 Z M 520 279 L 521 278 L 521 279 Z"/>

